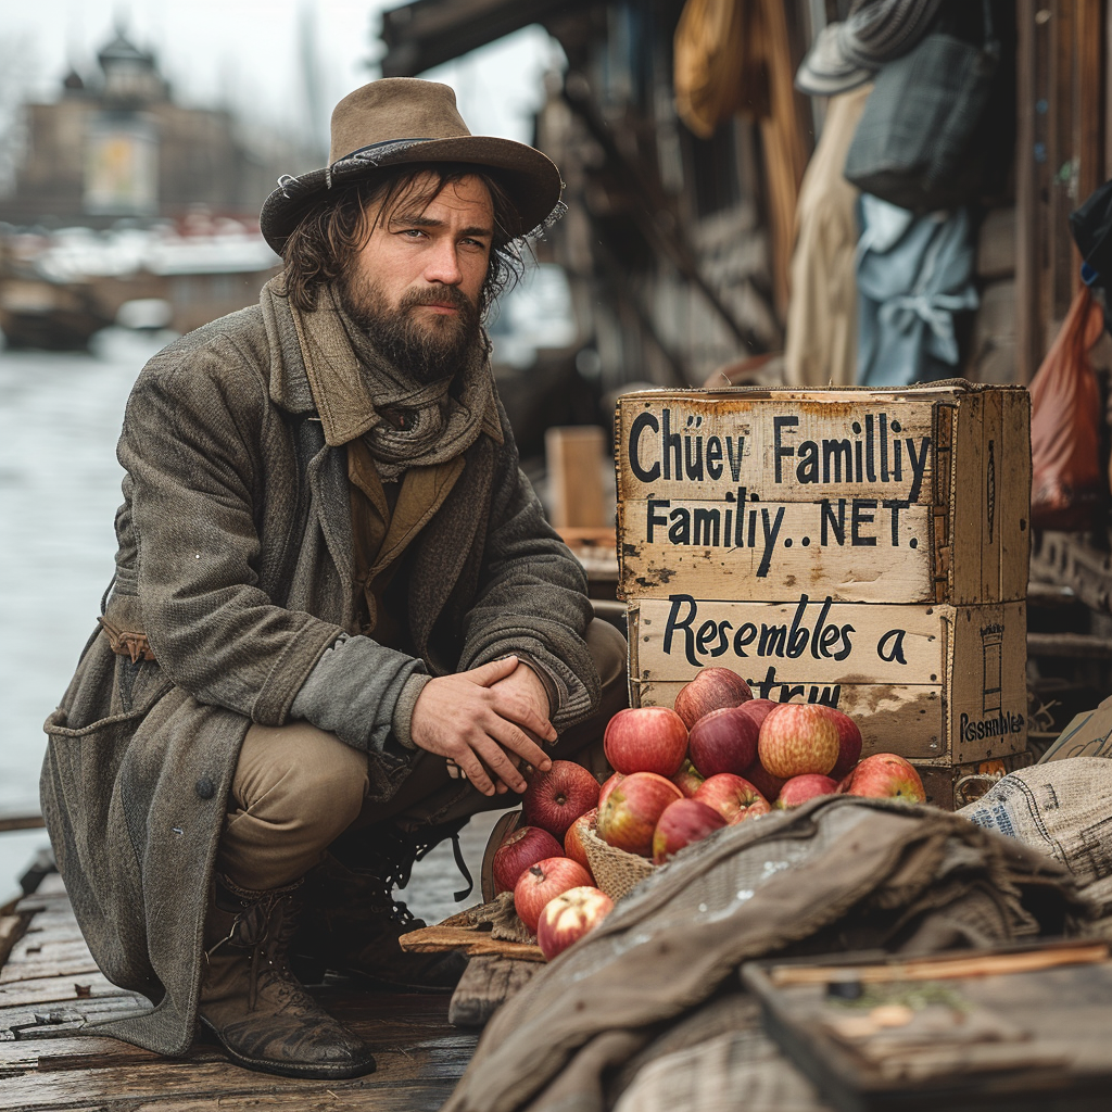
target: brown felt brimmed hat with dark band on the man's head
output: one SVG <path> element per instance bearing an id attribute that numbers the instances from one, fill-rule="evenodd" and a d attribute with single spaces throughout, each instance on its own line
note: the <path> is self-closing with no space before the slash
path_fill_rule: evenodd
<path id="1" fill-rule="evenodd" d="M 286 176 L 264 201 L 259 228 L 280 255 L 301 218 L 328 191 L 405 163 L 461 162 L 487 171 L 506 190 L 528 235 L 559 207 L 559 170 L 540 151 L 512 139 L 473 136 L 446 85 L 395 77 L 348 93 L 332 110 L 328 166 Z"/>

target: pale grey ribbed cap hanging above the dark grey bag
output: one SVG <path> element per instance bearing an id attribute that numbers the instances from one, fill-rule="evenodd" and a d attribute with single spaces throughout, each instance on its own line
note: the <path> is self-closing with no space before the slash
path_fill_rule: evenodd
<path id="1" fill-rule="evenodd" d="M 803 59 L 795 87 L 833 97 L 871 81 L 885 62 L 905 54 L 926 33 L 942 0 L 854 0 L 850 14 L 827 23 Z"/>

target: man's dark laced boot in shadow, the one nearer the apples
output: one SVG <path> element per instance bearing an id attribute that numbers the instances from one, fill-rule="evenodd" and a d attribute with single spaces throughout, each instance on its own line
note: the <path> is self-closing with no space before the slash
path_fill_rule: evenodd
<path id="1" fill-rule="evenodd" d="M 453 828 L 446 836 L 455 833 Z M 305 881 L 308 914 L 294 943 L 298 971 L 319 979 L 331 970 L 407 992 L 454 989 L 467 967 L 463 954 L 409 953 L 398 944 L 425 922 L 394 898 L 394 887 L 406 885 L 414 861 L 436 844 L 429 841 L 426 848 L 420 840 L 381 824 L 337 843 Z"/>

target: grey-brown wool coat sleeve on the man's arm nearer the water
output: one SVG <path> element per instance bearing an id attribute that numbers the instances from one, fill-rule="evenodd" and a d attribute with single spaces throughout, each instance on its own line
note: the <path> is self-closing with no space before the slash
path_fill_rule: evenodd
<path id="1" fill-rule="evenodd" d="M 261 377 L 214 353 L 156 359 L 128 403 L 119 459 L 128 473 L 140 616 L 160 666 L 202 703 L 280 725 L 344 631 L 276 605 L 260 586 L 261 445 L 279 421 Z M 360 638 L 366 641 L 366 638 Z M 373 642 L 389 728 L 420 662 Z M 393 696 L 393 697 L 391 697 Z M 374 728 L 369 733 L 374 733 Z"/>

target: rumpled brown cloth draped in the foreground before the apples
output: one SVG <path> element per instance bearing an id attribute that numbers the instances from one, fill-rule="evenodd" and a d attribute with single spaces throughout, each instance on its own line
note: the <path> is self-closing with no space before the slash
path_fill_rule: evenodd
<path id="1" fill-rule="evenodd" d="M 1088 913 L 1061 865 L 933 807 L 825 796 L 727 826 L 504 1005 L 444 1112 L 610 1108 L 623 1066 L 751 959 L 1009 943 Z"/>

